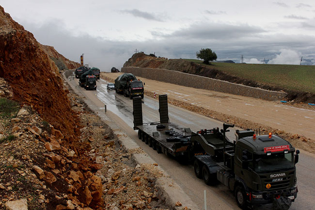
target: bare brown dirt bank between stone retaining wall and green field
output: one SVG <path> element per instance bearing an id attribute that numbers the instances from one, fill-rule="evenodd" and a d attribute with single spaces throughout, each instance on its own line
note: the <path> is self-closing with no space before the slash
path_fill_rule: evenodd
<path id="1" fill-rule="evenodd" d="M 127 66 L 137 66 L 137 67 L 147 67 L 147 68 L 161 68 L 169 69 L 174 71 L 180 71 L 188 74 L 199 75 L 203 77 L 213 78 L 217 80 L 229 81 L 237 84 L 243 84 L 251 87 L 258 87 L 266 90 L 273 91 L 285 91 L 288 95 L 284 100 L 292 101 L 294 103 L 305 102 L 313 103 L 315 101 L 315 94 L 297 92 L 292 90 L 286 90 L 282 87 L 270 86 L 267 84 L 259 83 L 256 81 L 251 81 L 248 79 L 238 78 L 232 76 L 226 72 L 222 72 L 216 69 L 215 65 L 199 65 L 193 62 L 189 62 L 183 59 L 166 59 L 166 58 L 156 58 L 148 56 L 144 53 L 136 53 L 131 58 L 126 61 L 124 67 Z"/>

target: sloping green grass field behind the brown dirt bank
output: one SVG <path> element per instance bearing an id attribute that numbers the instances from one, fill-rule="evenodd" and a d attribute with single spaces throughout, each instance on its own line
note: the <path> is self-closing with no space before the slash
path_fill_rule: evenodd
<path id="1" fill-rule="evenodd" d="M 201 60 L 185 59 L 203 64 Z M 210 68 L 233 76 L 278 86 L 287 90 L 315 93 L 315 65 L 228 64 L 215 63 Z"/>

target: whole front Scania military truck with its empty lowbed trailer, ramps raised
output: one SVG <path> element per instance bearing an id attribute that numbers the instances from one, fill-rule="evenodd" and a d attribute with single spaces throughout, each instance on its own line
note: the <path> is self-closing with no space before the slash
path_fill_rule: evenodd
<path id="1" fill-rule="evenodd" d="M 264 205 L 287 210 L 297 198 L 299 150 L 283 138 L 248 129 L 236 130 L 236 140 L 231 141 L 225 133 L 234 125 L 225 123 L 222 129 L 181 128 L 169 120 L 167 95 L 159 96 L 158 110 L 159 122 L 143 124 L 142 100 L 133 98 L 139 139 L 158 153 L 193 162 L 197 178 L 207 185 L 221 182 L 234 192 L 240 208 Z"/>

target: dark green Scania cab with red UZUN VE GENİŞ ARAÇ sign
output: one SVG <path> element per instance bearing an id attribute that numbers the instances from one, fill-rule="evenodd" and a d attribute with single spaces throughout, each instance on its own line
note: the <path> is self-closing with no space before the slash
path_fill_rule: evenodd
<path id="1" fill-rule="evenodd" d="M 289 209 L 298 192 L 295 164 L 299 150 L 294 153 L 295 148 L 289 142 L 271 133 L 236 138 L 237 204 L 240 207 L 273 204 L 276 208 Z"/>

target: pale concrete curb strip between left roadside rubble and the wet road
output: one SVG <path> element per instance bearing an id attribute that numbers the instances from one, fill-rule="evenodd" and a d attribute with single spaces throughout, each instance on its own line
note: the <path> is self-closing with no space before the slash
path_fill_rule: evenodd
<path id="1" fill-rule="evenodd" d="M 68 70 L 63 73 L 63 78 L 65 81 L 69 81 L 72 78 L 74 70 Z M 79 96 L 82 97 L 84 102 L 89 106 L 89 108 L 97 113 L 97 115 L 110 127 L 113 134 L 117 136 L 118 142 L 123 146 L 125 151 L 139 148 L 139 145 L 129 138 L 124 131 L 122 131 L 117 124 L 112 122 L 105 112 L 100 112 L 99 108 L 96 107 L 90 100 L 86 99 L 78 90 L 79 86 L 75 87 L 71 83 L 69 86 L 72 90 Z M 104 108 L 105 109 L 105 108 Z M 136 164 L 153 164 L 155 163 L 150 156 L 148 156 L 144 151 L 143 154 L 131 154 L 132 161 Z M 190 197 L 183 191 L 183 189 L 171 178 L 166 171 L 164 171 L 160 166 L 156 166 L 159 171 L 163 173 L 163 177 L 156 179 L 156 188 L 158 189 L 157 196 L 159 199 L 165 202 L 167 206 L 171 206 L 174 210 L 182 210 L 184 207 L 188 207 L 191 210 L 199 210 L 198 206 L 190 199 Z M 172 183 L 172 186 L 169 186 Z M 176 207 L 175 203 L 180 201 L 182 206 Z"/>

